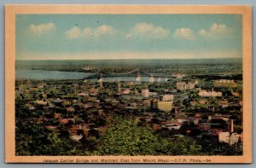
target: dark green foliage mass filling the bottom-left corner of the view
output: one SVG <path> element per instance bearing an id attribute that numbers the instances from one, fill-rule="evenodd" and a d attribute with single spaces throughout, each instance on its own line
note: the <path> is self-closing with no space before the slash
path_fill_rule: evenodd
<path id="1" fill-rule="evenodd" d="M 29 122 L 16 122 L 16 155 L 69 155 L 73 142 L 54 130 Z"/>

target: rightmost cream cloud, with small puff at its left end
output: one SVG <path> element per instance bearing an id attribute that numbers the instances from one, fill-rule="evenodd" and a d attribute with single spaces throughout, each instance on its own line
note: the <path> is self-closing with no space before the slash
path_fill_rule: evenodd
<path id="1" fill-rule="evenodd" d="M 202 38 L 219 39 L 230 36 L 230 29 L 225 25 L 213 23 L 209 30 L 201 29 L 198 34 Z"/>

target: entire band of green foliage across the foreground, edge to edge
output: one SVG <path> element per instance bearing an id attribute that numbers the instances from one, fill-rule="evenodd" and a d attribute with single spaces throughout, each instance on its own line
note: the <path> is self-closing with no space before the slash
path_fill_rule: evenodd
<path id="1" fill-rule="evenodd" d="M 241 145 L 230 146 L 162 129 L 154 133 L 135 119 L 115 118 L 103 134 L 90 129 L 88 136 L 73 142 L 65 131 L 56 133 L 29 121 L 16 121 L 16 155 L 241 155 Z M 200 145 L 199 145 L 200 144 Z"/>

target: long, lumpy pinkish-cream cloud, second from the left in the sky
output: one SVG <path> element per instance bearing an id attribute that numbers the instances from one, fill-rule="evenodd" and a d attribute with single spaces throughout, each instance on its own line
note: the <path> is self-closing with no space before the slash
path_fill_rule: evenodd
<path id="1" fill-rule="evenodd" d="M 72 27 L 66 31 L 67 38 L 99 38 L 103 35 L 112 35 L 115 32 L 112 26 L 97 26 L 96 28 L 85 27 L 80 29 L 79 27 Z"/>

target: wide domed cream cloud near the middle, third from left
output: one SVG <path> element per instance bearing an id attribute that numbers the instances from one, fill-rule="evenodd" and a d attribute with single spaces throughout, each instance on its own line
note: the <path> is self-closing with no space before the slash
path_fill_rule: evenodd
<path id="1" fill-rule="evenodd" d="M 138 23 L 125 34 L 126 38 L 168 38 L 170 31 L 161 26 L 154 26 L 151 23 Z"/>

